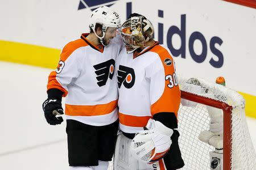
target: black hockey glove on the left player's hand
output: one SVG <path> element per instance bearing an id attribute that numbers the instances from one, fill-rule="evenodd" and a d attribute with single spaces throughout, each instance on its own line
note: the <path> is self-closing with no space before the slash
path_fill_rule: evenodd
<path id="1" fill-rule="evenodd" d="M 58 125 L 63 122 L 62 117 L 56 117 L 56 115 L 63 114 L 63 108 L 61 106 L 61 95 L 63 92 L 57 89 L 48 90 L 48 99 L 43 103 L 44 117 L 50 125 Z"/>

